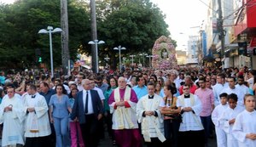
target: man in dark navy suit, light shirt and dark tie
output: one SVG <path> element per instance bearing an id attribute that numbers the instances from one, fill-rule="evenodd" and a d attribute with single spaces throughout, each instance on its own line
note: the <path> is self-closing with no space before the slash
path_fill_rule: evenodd
<path id="1" fill-rule="evenodd" d="M 96 147 L 98 142 L 97 123 L 102 118 L 103 106 L 99 94 L 90 87 L 90 80 L 82 81 L 84 90 L 77 93 L 71 119 L 79 121 L 84 145 Z"/>

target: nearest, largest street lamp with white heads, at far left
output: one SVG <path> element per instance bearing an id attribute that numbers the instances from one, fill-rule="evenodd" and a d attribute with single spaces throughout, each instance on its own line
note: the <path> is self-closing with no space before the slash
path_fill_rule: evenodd
<path id="1" fill-rule="evenodd" d="M 54 68 L 53 68 L 53 54 L 52 54 L 52 38 L 51 33 L 55 32 L 62 32 L 61 28 L 55 28 L 53 29 L 52 26 L 48 26 L 47 30 L 41 29 L 38 31 L 38 34 L 48 34 L 49 33 L 49 54 L 50 54 L 50 71 L 51 71 L 51 77 L 54 77 Z"/>

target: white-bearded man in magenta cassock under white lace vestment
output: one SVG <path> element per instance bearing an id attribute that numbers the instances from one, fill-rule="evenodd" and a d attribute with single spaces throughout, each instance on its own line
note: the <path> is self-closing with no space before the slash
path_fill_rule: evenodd
<path id="1" fill-rule="evenodd" d="M 126 86 L 125 77 L 119 77 L 119 87 L 115 88 L 108 99 L 110 113 L 113 113 L 113 133 L 120 147 L 140 147 L 141 135 L 137 124 L 137 95 Z"/>

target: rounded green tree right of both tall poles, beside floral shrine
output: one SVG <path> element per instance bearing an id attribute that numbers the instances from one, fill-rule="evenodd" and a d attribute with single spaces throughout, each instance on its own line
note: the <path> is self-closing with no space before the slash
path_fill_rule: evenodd
<path id="1" fill-rule="evenodd" d="M 102 58 L 109 54 L 117 59 L 113 48 L 119 45 L 126 48 L 122 54 L 149 53 L 157 38 L 170 35 L 166 16 L 148 0 L 105 0 L 99 5 L 98 37 L 107 42 L 99 52 Z"/>

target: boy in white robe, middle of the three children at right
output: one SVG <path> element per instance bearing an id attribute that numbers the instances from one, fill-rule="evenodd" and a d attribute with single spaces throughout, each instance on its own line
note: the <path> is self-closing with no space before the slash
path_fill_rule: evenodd
<path id="1" fill-rule="evenodd" d="M 230 95 L 228 95 L 229 107 L 224 110 L 224 113 L 219 118 L 220 126 L 227 134 L 228 147 L 238 147 L 237 139 L 234 138 L 232 133 L 232 128 L 236 122 L 236 116 L 244 110 L 244 107 L 237 105 L 237 99 L 235 93 L 230 93 Z"/>

